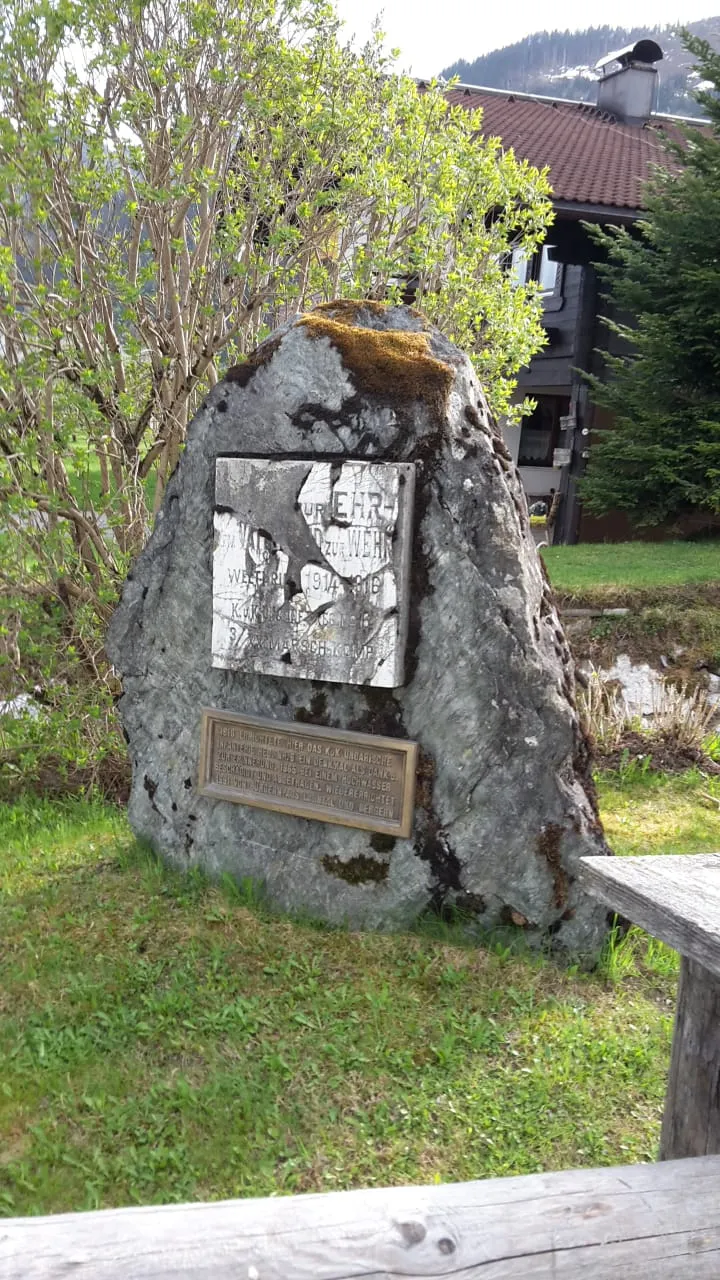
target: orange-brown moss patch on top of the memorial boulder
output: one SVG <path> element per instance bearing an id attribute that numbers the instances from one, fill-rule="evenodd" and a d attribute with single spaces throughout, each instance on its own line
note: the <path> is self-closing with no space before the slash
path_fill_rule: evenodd
<path id="1" fill-rule="evenodd" d="M 445 416 L 455 371 L 451 365 L 430 355 L 427 333 L 363 329 L 340 320 L 328 320 L 316 312 L 304 316 L 300 324 L 311 338 L 328 338 L 332 342 L 359 392 L 378 396 L 388 403 L 423 401 L 436 413 Z"/>

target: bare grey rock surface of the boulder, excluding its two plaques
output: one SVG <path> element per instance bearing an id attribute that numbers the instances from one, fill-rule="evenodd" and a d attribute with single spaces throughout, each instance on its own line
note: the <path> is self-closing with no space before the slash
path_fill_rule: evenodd
<path id="1" fill-rule="evenodd" d="M 211 664 L 219 456 L 414 462 L 402 687 Z M 366 928 L 457 905 L 480 927 L 596 954 L 606 913 L 575 882 L 609 852 L 574 664 L 519 476 L 469 360 L 405 307 L 325 306 L 219 383 L 196 415 L 108 653 L 123 680 L 129 819 L 159 854 L 261 882 L 279 909 Z M 420 744 L 414 835 L 199 795 L 204 707 Z"/>

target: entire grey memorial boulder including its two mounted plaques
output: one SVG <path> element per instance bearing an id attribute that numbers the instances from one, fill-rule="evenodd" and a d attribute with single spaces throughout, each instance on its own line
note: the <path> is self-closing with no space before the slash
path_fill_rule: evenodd
<path id="1" fill-rule="evenodd" d="M 413 310 L 322 306 L 213 388 L 108 653 L 129 820 L 173 864 L 600 948 L 573 658 L 473 367 Z"/>

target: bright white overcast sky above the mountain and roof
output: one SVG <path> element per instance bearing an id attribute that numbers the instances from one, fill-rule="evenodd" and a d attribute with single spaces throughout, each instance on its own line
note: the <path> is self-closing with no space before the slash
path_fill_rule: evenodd
<path id="1" fill-rule="evenodd" d="M 400 49 L 400 67 L 414 76 L 437 76 L 450 63 L 473 61 L 533 31 L 582 31 L 584 27 L 639 27 L 693 22 L 720 14 L 720 0 L 689 8 L 683 0 L 603 0 L 584 8 L 578 0 L 336 0 L 346 31 L 360 38 L 379 14 L 389 47 Z M 720 28 L 720 19 L 719 19 Z M 611 52 L 612 50 L 609 50 Z"/>

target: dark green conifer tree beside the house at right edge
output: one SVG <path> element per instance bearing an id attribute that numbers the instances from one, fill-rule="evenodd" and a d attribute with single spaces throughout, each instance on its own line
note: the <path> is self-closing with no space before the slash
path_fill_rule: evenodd
<path id="1" fill-rule="evenodd" d="M 593 442 L 582 492 L 594 515 L 628 512 L 635 525 L 700 511 L 720 515 L 720 54 L 685 33 L 705 87 L 710 125 L 669 145 L 650 184 L 647 218 L 633 230 L 596 230 L 598 266 L 630 343 L 591 379 L 615 415 Z"/>

